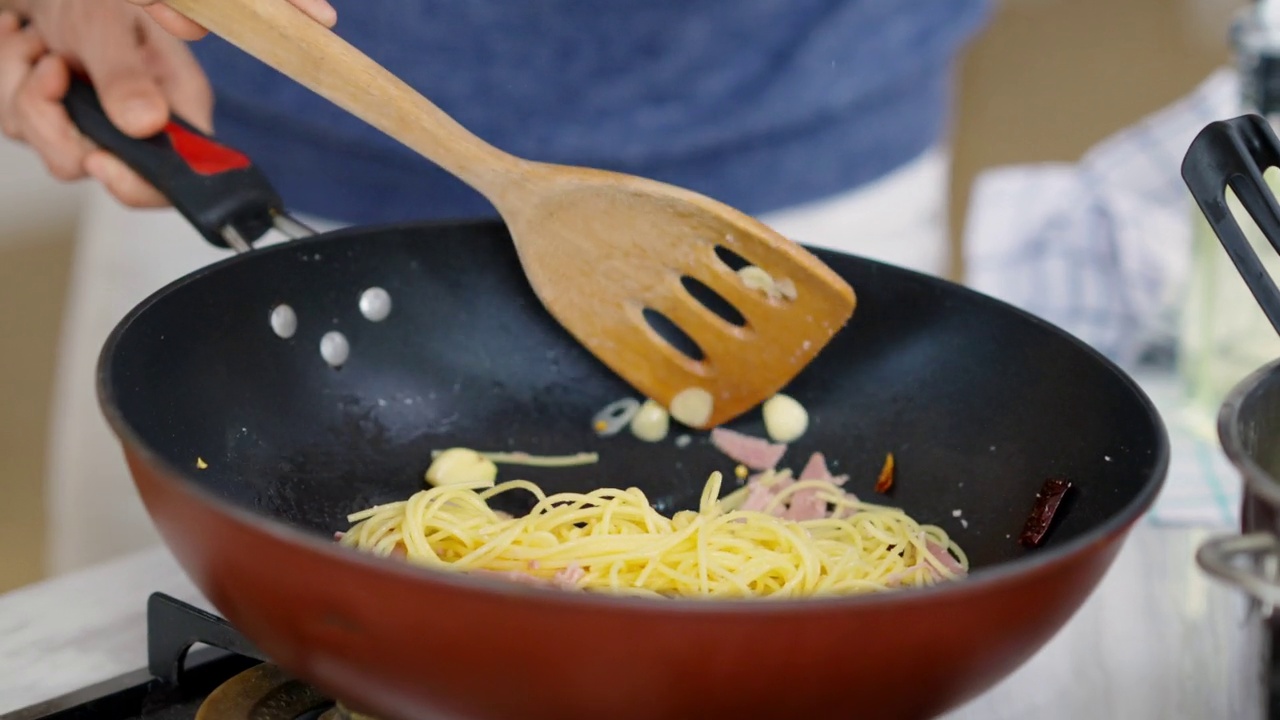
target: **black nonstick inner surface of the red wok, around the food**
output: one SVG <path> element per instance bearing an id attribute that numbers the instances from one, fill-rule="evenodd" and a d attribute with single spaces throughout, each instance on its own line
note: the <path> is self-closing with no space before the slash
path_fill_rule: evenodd
<path id="1" fill-rule="evenodd" d="M 785 466 L 823 451 L 847 489 L 943 527 L 975 568 L 1028 552 L 1018 534 L 1050 477 L 1075 483 L 1050 547 L 1153 492 L 1162 425 L 1083 345 L 959 286 L 819 256 L 859 305 L 787 391 L 812 423 Z M 357 307 L 371 286 L 394 302 L 380 323 Z M 298 316 L 291 340 L 268 322 L 280 302 Z M 319 352 L 333 329 L 351 342 L 338 370 Z M 685 448 L 675 429 L 658 445 L 595 437 L 591 416 L 634 393 L 541 309 L 493 223 L 347 231 L 206 268 L 122 323 L 101 372 L 108 404 L 191 482 L 325 537 L 421 489 L 434 448 L 598 451 L 598 465 L 499 479 L 636 486 L 663 511 L 692 507 L 712 470 L 732 478 L 705 433 Z M 730 427 L 763 436 L 758 411 Z M 886 452 L 897 479 L 883 498 Z"/>

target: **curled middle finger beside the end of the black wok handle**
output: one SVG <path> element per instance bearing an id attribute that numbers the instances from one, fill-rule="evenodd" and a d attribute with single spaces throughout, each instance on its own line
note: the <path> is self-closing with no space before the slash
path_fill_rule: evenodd
<path id="1" fill-rule="evenodd" d="M 84 155 L 91 145 L 72 124 L 63 108 L 70 72 L 56 55 L 45 55 L 18 88 L 19 132 L 61 181 L 84 177 Z"/>

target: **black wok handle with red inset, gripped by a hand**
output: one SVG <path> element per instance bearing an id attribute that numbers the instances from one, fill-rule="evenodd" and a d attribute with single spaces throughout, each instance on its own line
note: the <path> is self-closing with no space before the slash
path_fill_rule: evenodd
<path id="1" fill-rule="evenodd" d="M 284 211 L 279 193 L 244 154 L 178 115 L 152 137 L 131 137 L 111 123 L 97 92 L 78 76 L 63 105 L 86 137 L 154 184 L 212 245 L 244 252 L 273 227 L 294 238 L 314 234 Z"/>

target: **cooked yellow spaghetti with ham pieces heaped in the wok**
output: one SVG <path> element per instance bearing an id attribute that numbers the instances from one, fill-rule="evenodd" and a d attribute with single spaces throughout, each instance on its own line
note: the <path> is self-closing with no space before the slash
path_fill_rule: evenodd
<path id="1" fill-rule="evenodd" d="M 453 483 L 348 516 L 338 542 L 442 570 L 646 597 L 795 598 L 965 575 L 945 530 L 861 502 L 838 482 L 769 470 L 719 498 L 713 473 L 698 510 L 671 518 L 637 488 L 545 495 L 527 480 Z M 536 505 L 521 518 L 489 506 L 508 492 Z"/>

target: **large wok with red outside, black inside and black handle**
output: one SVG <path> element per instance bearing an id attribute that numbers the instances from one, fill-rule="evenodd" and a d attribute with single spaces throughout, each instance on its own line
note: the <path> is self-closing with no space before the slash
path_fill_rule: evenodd
<path id="1" fill-rule="evenodd" d="M 193 155 L 172 128 L 131 142 L 81 90 L 68 104 L 82 128 L 211 241 L 257 237 L 280 217 L 243 163 L 195 169 L 195 155 L 227 150 Z M 227 192 L 241 181 L 257 191 Z M 684 448 L 595 437 L 593 415 L 630 388 L 541 309 L 490 220 L 347 229 L 195 272 L 111 333 L 101 406 L 195 584 L 274 661 L 365 712 L 934 716 L 1011 673 L 1079 607 L 1164 480 L 1165 429 L 1128 377 L 1057 328 L 942 279 L 814 251 L 860 305 L 787 391 L 812 423 L 783 465 L 823 451 L 852 477 L 847 489 L 873 496 L 893 452 L 896 486 L 876 497 L 957 538 L 969 579 L 864 597 L 643 601 L 335 546 L 348 512 L 420 489 L 436 448 L 596 451 L 598 465 L 520 474 L 549 491 L 635 486 L 664 511 L 694 507 L 709 473 L 732 470 L 703 434 Z M 393 301 L 379 323 L 358 310 L 375 286 Z M 269 323 L 279 304 L 297 316 L 287 340 Z M 319 351 L 330 331 L 349 341 L 339 369 Z M 732 427 L 763 434 L 759 413 Z M 1019 532 L 1050 477 L 1074 489 L 1044 544 L 1027 550 Z"/>

